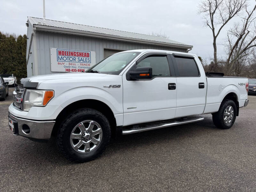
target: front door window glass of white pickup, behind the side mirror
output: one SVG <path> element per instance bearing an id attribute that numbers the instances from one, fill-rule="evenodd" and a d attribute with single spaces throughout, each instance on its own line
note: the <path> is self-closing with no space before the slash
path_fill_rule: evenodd
<path id="1" fill-rule="evenodd" d="M 152 77 L 170 76 L 170 69 L 166 56 L 149 56 L 140 61 L 137 67 L 152 67 Z"/>

